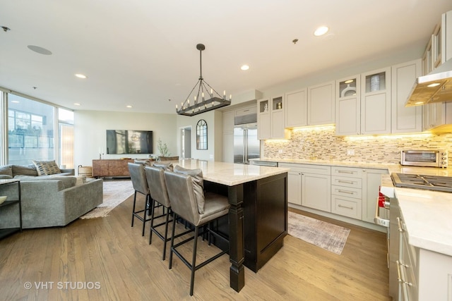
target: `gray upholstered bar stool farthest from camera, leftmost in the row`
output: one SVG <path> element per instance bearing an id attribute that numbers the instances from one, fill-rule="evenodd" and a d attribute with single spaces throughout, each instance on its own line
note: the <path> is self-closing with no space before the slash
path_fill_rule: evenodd
<path id="1" fill-rule="evenodd" d="M 146 211 L 150 209 L 150 191 L 148 187 L 148 181 L 144 171 L 143 164 L 129 163 L 130 178 L 132 180 L 133 189 L 135 194 L 133 195 L 133 209 L 132 209 L 132 227 L 133 219 L 137 218 L 143 222 L 143 230 L 141 236 L 144 236 L 145 223 L 150 221 L 150 218 L 146 218 Z M 136 194 L 137 192 L 145 195 L 145 206 L 143 210 L 136 210 Z M 140 214 L 143 213 L 143 216 Z"/>

